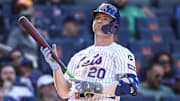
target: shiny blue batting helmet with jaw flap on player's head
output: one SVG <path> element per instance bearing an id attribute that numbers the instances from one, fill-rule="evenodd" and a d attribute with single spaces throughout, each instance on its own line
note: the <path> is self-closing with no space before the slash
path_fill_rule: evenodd
<path id="1" fill-rule="evenodd" d="M 114 19 L 114 21 L 110 24 L 103 25 L 101 29 L 105 34 L 115 33 L 120 23 L 119 10 L 112 4 L 102 3 L 96 10 L 93 11 L 94 18 L 97 13 L 105 13 Z"/>

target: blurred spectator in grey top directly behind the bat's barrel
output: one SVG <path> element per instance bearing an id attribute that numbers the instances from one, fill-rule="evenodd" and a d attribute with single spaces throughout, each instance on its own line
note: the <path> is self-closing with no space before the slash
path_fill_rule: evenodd
<path id="1" fill-rule="evenodd" d="M 22 11 L 20 15 L 26 16 L 34 24 L 33 14 L 31 11 L 29 10 Z M 40 29 L 38 29 L 38 31 L 45 38 L 45 40 L 47 41 L 49 40 L 47 33 L 43 32 Z M 29 34 L 25 33 L 19 27 L 16 27 L 14 30 L 11 31 L 8 38 L 7 45 L 12 48 L 21 47 L 25 53 L 28 53 L 34 56 L 37 55 L 37 51 L 38 51 L 37 43 Z"/>

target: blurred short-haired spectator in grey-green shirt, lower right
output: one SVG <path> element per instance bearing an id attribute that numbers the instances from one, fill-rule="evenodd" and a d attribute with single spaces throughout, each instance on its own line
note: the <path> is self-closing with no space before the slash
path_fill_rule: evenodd
<path id="1" fill-rule="evenodd" d="M 138 87 L 138 94 L 142 96 L 154 96 L 156 101 L 159 101 L 162 96 L 174 96 L 170 88 L 161 84 L 163 76 L 163 66 L 152 64 L 147 68 L 145 82 Z"/>

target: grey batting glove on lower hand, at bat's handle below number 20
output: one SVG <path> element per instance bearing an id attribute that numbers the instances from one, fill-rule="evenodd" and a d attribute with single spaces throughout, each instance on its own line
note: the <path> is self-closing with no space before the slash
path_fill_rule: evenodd
<path id="1" fill-rule="evenodd" d="M 82 81 L 71 78 L 71 81 L 76 83 L 75 88 L 78 92 L 102 93 L 103 86 L 97 82 Z"/>

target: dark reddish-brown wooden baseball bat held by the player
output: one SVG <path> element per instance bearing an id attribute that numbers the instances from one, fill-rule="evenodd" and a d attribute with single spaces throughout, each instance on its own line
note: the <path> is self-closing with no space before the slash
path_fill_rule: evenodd
<path id="1" fill-rule="evenodd" d="M 59 66 L 64 69 L 65 73 L 69 75 L 69 77 L 74 78 L 74 76 L 67 70 L 64 63 L 55 55 L 55 53 L 52 51 L 49 44 L 46 42 L 46 40 L 41 36 L 41 34 L 37 31 L 37 29 L 34 27 L 34 25 L 25 17 L 22 16 L 18 19 L 18 23 L 23 28 L 23 30 L 30 34 L 36 42 L 42 46 L 43 48 L 48 47 L 51 51 L 53 59 L 59 64 Z"/>

